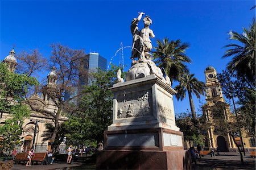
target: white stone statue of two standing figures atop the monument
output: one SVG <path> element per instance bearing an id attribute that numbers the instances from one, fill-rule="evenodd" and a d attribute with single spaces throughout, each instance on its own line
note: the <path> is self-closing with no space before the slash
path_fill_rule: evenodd
<path id="1" fill-rule="evenodd" d="M 152 23 L 149 16 L 145 16 L 143 18 L 144 28 L 139 31 L 138 23 L 143 14 L 144 13 L 139 13 L 138 18 L 134 18 L 131 22 L 131 34 L 133 34 L 133 46 L 131 52 L 132 60 L 134 60 L 135 57 L 137 57 L 139 61 L 143 61 L 145 59 L 151 60 L 151 53 L 149 53 L 152 49 L 150 36 L 151 38 L 155 38 L 155 35 L 149 28 Z"/>

